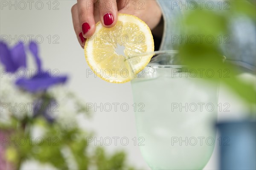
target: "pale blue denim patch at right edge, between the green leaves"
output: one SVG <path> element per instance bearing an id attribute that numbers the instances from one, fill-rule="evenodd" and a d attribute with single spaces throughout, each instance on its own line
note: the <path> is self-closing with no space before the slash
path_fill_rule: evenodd
<path id="1" fill-rule="evenodd" d="M 256 71 L 256 26 L 255 22 L 246 17 L 238 17 L 230 23 L 230 40 L 221 44 L 227 61 L 245 68 L 247 71 Z"/>

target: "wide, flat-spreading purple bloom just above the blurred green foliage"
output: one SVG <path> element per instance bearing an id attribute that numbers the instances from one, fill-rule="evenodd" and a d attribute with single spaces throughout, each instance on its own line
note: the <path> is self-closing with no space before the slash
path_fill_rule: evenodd
<path id="1" fill-rule="evenodd" d="M 48 72 L 42 72 L 41 75 L 36 74 L 32 78 L 20 78 L 17 79 L 15 84 L 20 88 L 35 93 L 38 91 L 45 91 L 52 85 L 65 83 L 67 76 L 51 77 Z"/>

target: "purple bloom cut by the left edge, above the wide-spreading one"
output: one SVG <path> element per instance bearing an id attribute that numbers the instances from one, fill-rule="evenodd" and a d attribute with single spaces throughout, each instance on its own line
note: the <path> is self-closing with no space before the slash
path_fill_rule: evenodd
<path id="1" fill-rule="evenodd" d="M 26 68 L 26 53 L 21 43 L 9 49 L 7 45 L 0 42 L 0 61 L 6 68 L 7 72 L 15 72 L 18 68 Z"/>

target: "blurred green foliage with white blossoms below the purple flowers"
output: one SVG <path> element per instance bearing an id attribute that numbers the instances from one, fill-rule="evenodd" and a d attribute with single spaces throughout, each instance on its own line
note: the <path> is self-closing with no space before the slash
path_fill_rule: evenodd
<path id="1" fill-rule="evenodd" d="M 52 94 L 43 94 L 50 101 Z M 77 103 L 79 101 L 73 94 L 67 95 L 69 99 L 76 101 L 76 113 L 84 113 L 88 115 L 87 108 Z M 47 105 L 47 102 L 43 102 Z M 18 113 L 10 113 L 8 122 L 1 122 L 1 133 L 5 133 L 7 138 L 19 141 L 21 138 L 26 139 L 26 144 L 23 141 L 17 144 L 7 144 L 6 159 L 11 162 L 17 169 L 23 161 L 27 159 L 37 160 L 41 163 L 52 164 L 58 169 L 74 168 L 69 164 L 70 160 L 75 162 L 77 169 L 87 170 L 90 167 L 102 170 L 132 170 L 133 168 L 126 164 L 126 156 L 122 151 L 117 151 L 113 155 L 105 152 L 104 147 L 95 147 L 87 142 L 86 137 L 93 137 L 93 133 L 81 130 L 77 122 L 69 127 L 63 125 L 63 122 L 55 118 L 55 122 L 48 122 L 44 116 L 25 116 L 20 118 L 16 116 Z M 37 127 L 43 132 L 39 140 L 38 137 L 32 136 L 32 130 Z M 43 142 L 42 142 L 43 141 Z M 69 151 L 67 151 L 69 150 Z M 88 151 L 90 150 L 90 152 Z M 2 155 L 1 155 L 2 156 Z M 71 167 L 70 167 L 71 166 Z"/>

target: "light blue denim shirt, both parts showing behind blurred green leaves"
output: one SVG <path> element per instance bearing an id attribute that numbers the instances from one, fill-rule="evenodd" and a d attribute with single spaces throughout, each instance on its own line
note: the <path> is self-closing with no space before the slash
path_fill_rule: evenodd
<path id="1" fill-rule="evenodd" d="M 195 1 L 194 1 L 195 2 Z M 199 1 L 198 1 L 199 2 Z M 215 10 L 218 10 L 219 1 L 215 3 Z M 163 37 L 160 50 L 177 50 L 180 41 L 175 40 L 180 36 L 180 18 L 186 14 L 190 0 L 157 0 L 164 20 Z M 228 62 L 249 71 L 256 71 L 256 25 L 255 22 L 246 18 L 235 18 L 230 23 L 230 35 L 226 42 L 221 43 L 223 55 Z"/>

